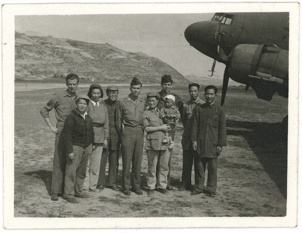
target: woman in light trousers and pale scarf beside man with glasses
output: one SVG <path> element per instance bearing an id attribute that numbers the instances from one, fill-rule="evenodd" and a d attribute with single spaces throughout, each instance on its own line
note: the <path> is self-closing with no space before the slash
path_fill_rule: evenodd
<path id="1" fill-rule="evenodd" d="M 100 164 L 103 148 L 107 148 L 109 138 L 109 120 L 108 110 L 105 105 L 100 103 L 103 98 L 102 87 L 98 84 L 90 86 L 88 97 L 90 102 L 87 108 L 88 115 L 92 118 L 95 139 L 93 151 L 88 160 L 86 178 L 83 184 L 83 189 L 86 192 L 101 192 L 97 189 L 97 184 L 100 174 Z"/>

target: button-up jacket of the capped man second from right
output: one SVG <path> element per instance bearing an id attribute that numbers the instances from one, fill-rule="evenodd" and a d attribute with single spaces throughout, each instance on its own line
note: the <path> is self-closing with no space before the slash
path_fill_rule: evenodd
<path id="1" fill-rule="evenodd" d="M 197 104 L 204 104 L 205 102 L 201 100 L 199 97 L 193 101 L 189 100 L 187 103 L 184 104 L 182 108 L 182 123 L 184 126 L 184 132 L 181 140 L 182 148 L 185 150 L 189 150 L 192 148 L 191 145 L 191 125 L 192 125 L 192 115 L 193 110 L 195 109 Z"/>

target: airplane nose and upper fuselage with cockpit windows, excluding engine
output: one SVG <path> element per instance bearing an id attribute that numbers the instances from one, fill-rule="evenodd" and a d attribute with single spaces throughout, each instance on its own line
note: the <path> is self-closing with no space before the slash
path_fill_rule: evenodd
<path id="1" fill-rule="evenodd" d="M 225 63 L 218 45 L 229 55 L 238 44 L 277 45 L 288 50 L 289 13 L 216 13 L 211 21 L 191 24 L 185 38 L 201 53 Z"/>

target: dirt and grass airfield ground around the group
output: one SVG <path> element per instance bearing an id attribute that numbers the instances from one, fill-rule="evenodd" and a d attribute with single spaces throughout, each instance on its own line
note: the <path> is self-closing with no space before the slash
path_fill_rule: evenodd
<path id="1" fill-rule="evenodd" d="M 51 88 L 53 86 L 53 88 Z M 105 188 L 79 204 L 59 197 L 50 200 L 54 134 L 40 115 L 51 95 L 64 90 L 56 84 L 15 85 L 15 217 L 214 217 L 285 216 L 287 174 L 287 131 L 281 124 L 287 115 L 287 99 L 275 95 L 271 102 L 257 99 L 253 90 L 230 88 L 226 94 L 227 142 L 218 158 L 217 196 L 191 196 L 178 191 L 182 173 L 181 137 L 176 127 L 176 147 L 172 154 L 172 186 L 169 195 L 146 194 L 147 158 L 142 156 L 143 195 L 125 196 Z M 142 96 L 160 87 L 144 87 Z M 80 87 L 77 93 L 87 93 Z M 122 87 L 119 99 L 128 94 Z M 187 87 L 173 87 L 186 101 Z M 203 91 L 201 92 L 202 95 Z M 220 101 L 218 93 L 218 101 Z M 201 96 L 203 97 L 203 96 Z M 51 120 L 55 122 L 54 113 Z M 121 184 L 121 158 L 118 186 Z M 107 165 L 108 171 L 108 165 Z M 107 172 L 106 171 L 106 172 Z M 194 170 L 192 187 L 194 185 Z M 80 210 L 80 211 L 79 211 Z"/>

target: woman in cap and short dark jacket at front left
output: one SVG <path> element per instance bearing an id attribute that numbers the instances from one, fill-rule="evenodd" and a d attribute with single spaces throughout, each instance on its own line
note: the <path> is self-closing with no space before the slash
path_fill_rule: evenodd
<path id="1" fill-rule="evenodd" d="M 92 119 L 86 112 L 89 97 L 79 95 L 76 103 L 77 108 L 66 117 L 61 132 L 67 155 L 63 197 L 70 203 L 79 203 L 74 197 L 89 198 L 82 186 L 94 143 Z"/>

